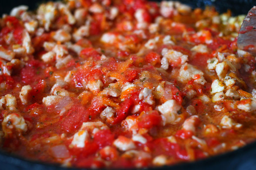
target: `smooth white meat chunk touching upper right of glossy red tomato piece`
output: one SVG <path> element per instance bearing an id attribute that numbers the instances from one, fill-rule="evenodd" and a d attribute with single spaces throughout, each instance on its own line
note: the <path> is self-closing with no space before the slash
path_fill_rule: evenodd
<path id="1" fill-rule="evenodd" d="M 168 100 L 157 108 L 166 119 L 165 123 L 175 124 L 176 122 L 180 121 L 180 119 L 177 118 L 177 111 L 181 109 L 181 105 L 179 105 L 175 100 Z"/>

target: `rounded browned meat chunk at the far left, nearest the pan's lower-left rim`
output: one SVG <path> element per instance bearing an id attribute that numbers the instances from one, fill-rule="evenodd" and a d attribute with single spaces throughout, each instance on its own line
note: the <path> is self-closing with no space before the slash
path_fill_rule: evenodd
<path id="1" fill-rule="evenodd" d="M 12 113 L 6 116 L 2 122 L 2 126 L 9 129 L 15 128 L 22 132 L 28 130 L 25 119 L 19 113 Z"/>

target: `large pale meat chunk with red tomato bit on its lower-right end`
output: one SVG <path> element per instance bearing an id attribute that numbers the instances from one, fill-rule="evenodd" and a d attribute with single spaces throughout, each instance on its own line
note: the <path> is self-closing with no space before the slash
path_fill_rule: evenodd
<path id="1" fill-rule="evenodd" d="M 204 85 L 206 83 L 206 80 L 203 77 L 203 72 L 193 65 L 190 64 L 183 64 L 180 68 L 179 76 L 177 79 L 181 82 L 188 82 L 190 79 L 195 79 L 194 82 L 198 84 Z M 197 75 L 200 75 L 199 78 L 196 79 Z"/>

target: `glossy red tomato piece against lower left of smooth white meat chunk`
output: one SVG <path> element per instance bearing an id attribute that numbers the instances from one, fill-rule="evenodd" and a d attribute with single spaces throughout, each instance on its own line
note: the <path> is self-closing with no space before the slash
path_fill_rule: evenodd
<path id="1" fill-rule="evenodd" d="M 152 111 L 146 116 L 142 117 L 142 120 L 139 122 L 138 126 L 141 128 L 150 129 L 154 126 L 161 125 L 162 117 L 157 111 Z"/>

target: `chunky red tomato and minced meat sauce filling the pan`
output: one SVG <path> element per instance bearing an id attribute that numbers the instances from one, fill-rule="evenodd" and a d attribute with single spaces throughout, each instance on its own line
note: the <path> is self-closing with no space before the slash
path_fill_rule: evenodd
<path id="1" fill-rule="evenodd" d="M 0 19 L 1 149 L 67 167 L 155 167 L 256 139 L 245 15 L 69 0 Z"/>

